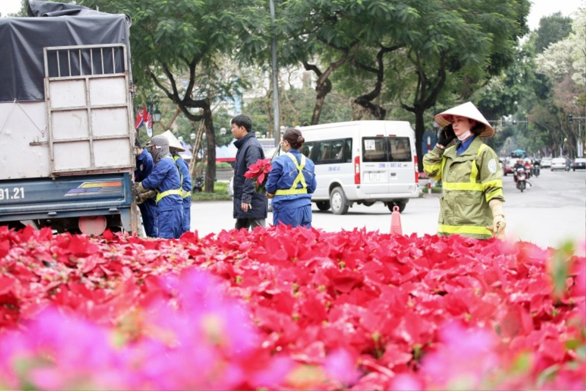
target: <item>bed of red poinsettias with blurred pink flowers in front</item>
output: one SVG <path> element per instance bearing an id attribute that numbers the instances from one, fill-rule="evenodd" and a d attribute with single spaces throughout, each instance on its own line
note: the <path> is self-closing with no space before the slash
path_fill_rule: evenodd
<path id="1" fill-rule="evenodd" d="M 0 227 L 0 259 L 2 389 L 586 387 L 586 259 L 571 250 Z"/>

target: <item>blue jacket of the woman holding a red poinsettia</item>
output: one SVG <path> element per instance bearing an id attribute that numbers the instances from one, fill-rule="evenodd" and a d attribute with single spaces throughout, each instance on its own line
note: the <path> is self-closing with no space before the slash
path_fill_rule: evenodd
<path id="1" fill-rule="evenodd" d="M 301 153 L 297 149 L 289 149 L 290 152 L 297 158 L 297 163 L 301 164 Z M 272 161 L 272 169 L 268 174 L 266 189 L 268 193 L 275 193 L 277 189 L 290 189 L 299 174 L 299 171 L 291 158 L 287 155 Z M 275 195 L 272 199 L 271 205 L 274 210 L 287 210 L 298 208 L 299 206 L 311 205 L 311 193 L 315 191 L 315 165 L 309 158 L 305 158 L 305 166 L 302 170 L 307 185 L 307 194 L 291 194 L 291 195 Z M 297 183 L 297 189 L 303 186 L 301 182 Z"/>

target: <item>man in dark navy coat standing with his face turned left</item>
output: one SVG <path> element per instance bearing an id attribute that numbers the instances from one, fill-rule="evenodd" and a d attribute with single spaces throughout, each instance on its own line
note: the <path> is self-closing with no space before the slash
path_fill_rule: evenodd
<path id="1" fill-rule="evenodd" d="M 232 134 L 238 148 L 234 164 L 234 219 L 236 229 L 264 227 L 267 218 L 268 200 L 264 192 L 254 191 L 254 183 L 244 176 L 248 166 L 264 159 L 263 148 L 254 133 L 253 121 L 247 115 L 232 118 Z"/>

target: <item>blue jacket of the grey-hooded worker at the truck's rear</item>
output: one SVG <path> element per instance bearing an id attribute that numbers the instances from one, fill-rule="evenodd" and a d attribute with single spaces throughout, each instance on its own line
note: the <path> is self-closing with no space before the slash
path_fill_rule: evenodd
<path id="1" fill-rule="evenodd" d="M 156 189 L 161 193 L 171 189 L 179 189 L 181 187 L 179 171 L 177 171 L 173 158 L 166 157 L 159 160 L 151 175 L 142 181 L 142 187 Z M 159 212 L 174 209 L 183 210 L 183 200 L 180 195 L 168 195 L 159 200 L 156 207 Z"/>

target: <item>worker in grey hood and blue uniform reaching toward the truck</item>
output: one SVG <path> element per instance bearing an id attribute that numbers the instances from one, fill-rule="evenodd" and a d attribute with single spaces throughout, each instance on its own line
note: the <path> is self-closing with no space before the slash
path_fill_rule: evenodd
<path id="1" fill-rule="evenodd" d="M 169 141 L 164 136 L 154 136 L 147 148 L 155 168 L 138 183 L 137 191 L 139 194 L 153 189 L 156 191 L 158 237 L 178 239 L 182 233 L 183 200 L 179 172 L 169 152 Z"/>

